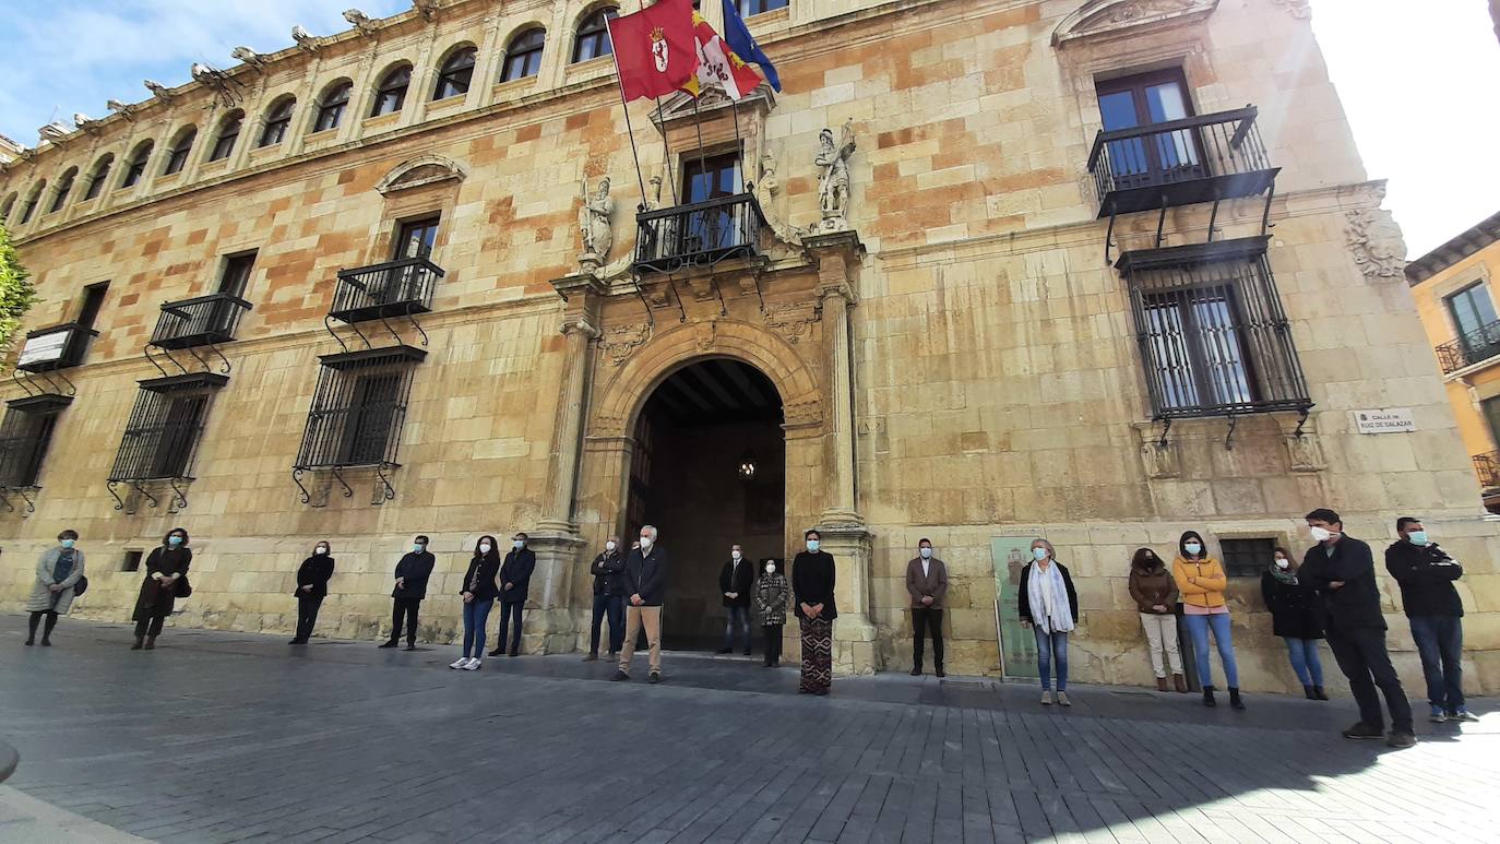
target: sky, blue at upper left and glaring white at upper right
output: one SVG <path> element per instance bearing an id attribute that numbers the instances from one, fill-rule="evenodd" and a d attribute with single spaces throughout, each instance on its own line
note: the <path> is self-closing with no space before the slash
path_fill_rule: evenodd
<path id="1" fill-rule="evenodd" d="M 0 133 L 27 145 L 48 120 L 142 100 L 141 79 L 188 81 L 194 61 L 272 52 L 291 27 L 348 28 L 410 0 L 0 0 Z M 1414 12 L 1420 9 L 1420 13 Z M 1494 144 L 1500 45 L 1482 0 L 1312 0 L 1312 25 L 1372 178 L 1420 255 L 1500 210 Z"/>

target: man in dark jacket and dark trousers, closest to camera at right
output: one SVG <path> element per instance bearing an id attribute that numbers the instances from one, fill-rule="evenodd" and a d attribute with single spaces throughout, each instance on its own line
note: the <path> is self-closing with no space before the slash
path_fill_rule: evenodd
<path id="1" fill-rule="evenodd" d="M 1308 513 L 1306 523 L 1316 544 L 1302 555 L 1298 579 L 1318 592 L 1328 648 L 1359 703 L 1359 723 L 1344 730 L 1344 738 L 1384 738 L 1394 748 L 1408 748 L 1416 744 L 1412 703 L 1386 651 L 1386 616 L 1370 546 L 1344 534 L 1338 513 L 1326 507 Z M 1390 711 L 1389 736 L 1377 688 Z"/>

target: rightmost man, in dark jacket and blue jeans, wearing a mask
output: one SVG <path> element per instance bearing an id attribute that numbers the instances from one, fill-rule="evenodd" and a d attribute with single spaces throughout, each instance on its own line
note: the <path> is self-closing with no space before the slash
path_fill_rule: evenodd
<path id="1" fill-rule="evenodd" d="M 1464 567 L 1428 540 L 1422 520 L 1396 520 L 1401 538 L 1386 549 L 1386 571 L 1401 588 L 1401 609 L 1422 658 L 1430 720 L 1478 721 L 1464 705 L 1464 601 L 1454 582 Z"/>

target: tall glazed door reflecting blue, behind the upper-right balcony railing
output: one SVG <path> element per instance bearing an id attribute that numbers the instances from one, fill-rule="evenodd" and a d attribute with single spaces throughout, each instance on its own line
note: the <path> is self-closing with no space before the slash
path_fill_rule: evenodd
<path id="1" fill-rule="evenodd" d="M 1098 84 L 1106 132 L 1192 117 L 1180 69 L 1122 76 Z M 1202 142 L 1192 129 L 1142 133 L 1108 144 L 1110 168 L 1120 187 L 1148 187 L 1206 177 Z"/>

